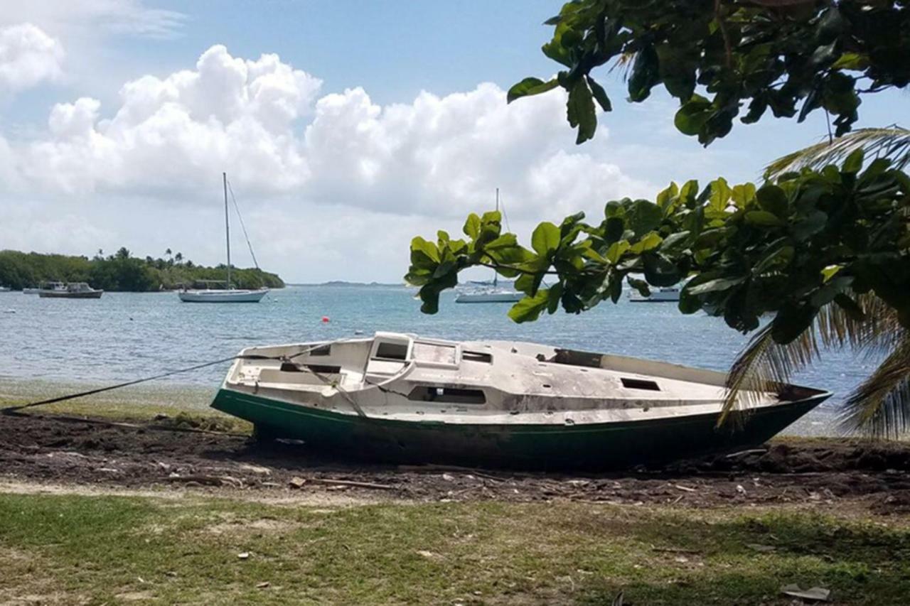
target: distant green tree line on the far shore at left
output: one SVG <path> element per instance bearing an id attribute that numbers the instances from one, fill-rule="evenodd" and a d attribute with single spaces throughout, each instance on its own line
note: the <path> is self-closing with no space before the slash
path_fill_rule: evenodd
<path id="1" fill-rule="evenodd" d="M 45 281 L 87 282 L 110 291 L 149 292 L 192 286 L 197 280 L 224 280 L 224 264 L 214 268 L 196 265 L 181 253 L 165 251 L 167 258 L 132 257 L 126 247 L 94 258 L 0 250 L 0 286 L 15 289 Z M 278 275 L 261 269 L 231 266 L 231 284 L 237 288 L 284 288 Z"/>

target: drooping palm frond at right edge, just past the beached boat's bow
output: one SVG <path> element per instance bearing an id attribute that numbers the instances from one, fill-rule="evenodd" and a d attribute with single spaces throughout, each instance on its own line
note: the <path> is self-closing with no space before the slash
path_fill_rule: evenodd
<path id="1" fill-rule="evenodd" d="M 844 401 L 839 424 L 876 438 L 897 438 L 910 429 L 910 334 Z"/>

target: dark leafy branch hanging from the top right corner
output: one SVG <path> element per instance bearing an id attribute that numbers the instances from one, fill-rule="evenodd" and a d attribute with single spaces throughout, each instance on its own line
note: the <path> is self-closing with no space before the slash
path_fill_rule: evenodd
<path id="1" fill-rule="evenodd" d="M 910 82 L 907 0 L 575 0 L 546 22 L 544 55 L 563 68 L 549 81 L 528 77 L 508 99 L 561 86 L 577 143 L 612 103 L 592 72 L 631 65 L 629 100 L 663 85 L 679 99 L 675 125 L 707 146 L 743 123 L 834 116 L 836 135 L 858 118 L 860 95 Z M 743 113 L 744 112 L 744 113 Z"/>

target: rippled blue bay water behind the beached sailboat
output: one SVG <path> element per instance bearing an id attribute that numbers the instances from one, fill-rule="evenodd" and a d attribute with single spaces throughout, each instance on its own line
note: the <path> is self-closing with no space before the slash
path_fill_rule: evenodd
<path id="1" fill-rule="evenodd" d="M 177 294 L 106 293 L 99 300 L 0 293 L 0 381 L 105 384 L 225 358 L 241 348 L 346 338 L 376 330 L 455 339 L 514 339 L 725 370 L 747 338 L 721 318 L 683 316 L 673 303 L 603 303 L 581 315 L 558 312 L 515 324 L 508 304 L 456 304 L 420 313 L 414 290 L 390 286 L 301 286 L 273 290 L 258 304 L 181 303 Z M 322 322 L 321 318 L 329 318 Z M 228 363 L 161 379 L 216 389 Z M 797 382 L 834 397 L 794 426 L 834 432 L 837 404 L 875 367 L 832 351 Z"/>

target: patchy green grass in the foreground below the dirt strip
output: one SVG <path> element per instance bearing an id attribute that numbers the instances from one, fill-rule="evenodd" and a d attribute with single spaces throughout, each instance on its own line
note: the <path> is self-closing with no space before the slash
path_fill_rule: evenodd
<path id="1" fill-rule="evenodd" d="M 789 582 L 843 604 L 910 595 L 905 520 L 793 510 L 2 494 L 0 561 L 0 602 L 787 604 Z"/>

